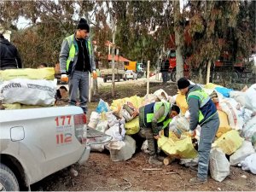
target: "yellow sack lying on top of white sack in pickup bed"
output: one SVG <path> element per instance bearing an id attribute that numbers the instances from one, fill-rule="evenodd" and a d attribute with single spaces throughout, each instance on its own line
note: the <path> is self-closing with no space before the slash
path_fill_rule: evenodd
<path id="1" fill-rule="evenodd" d="M 0 70 L 0 80 L 8 81 L 11 79 L 55 79 L 54 67 L 44 68 L 17 68 Z"/>

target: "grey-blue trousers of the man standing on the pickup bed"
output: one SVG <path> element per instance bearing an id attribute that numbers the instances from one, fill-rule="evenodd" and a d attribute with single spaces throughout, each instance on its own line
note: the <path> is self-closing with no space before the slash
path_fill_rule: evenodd
<path id="1" fill-rule="evenodd" d="M 86 113 L 89 97 L 89 72 L 74 71 L 73 75 L 69 77 L 68 86 L 69 105 L 76 105 L 79 93 L 79 106 Z"/>

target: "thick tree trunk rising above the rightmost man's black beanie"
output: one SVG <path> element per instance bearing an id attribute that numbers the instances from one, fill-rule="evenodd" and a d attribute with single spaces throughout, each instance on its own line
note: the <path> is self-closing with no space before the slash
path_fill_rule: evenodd
<path id="1" fill-rule="evenodd" d="M 179 1 L 173 1 L 174 5 L 174 32 L 175 32 L 175 45 L 176 45 L 176 81 L 183 77 L 183 56 L 181 52 L 181 35 L 178 32 L 178 15 L 179 13 Z"/>

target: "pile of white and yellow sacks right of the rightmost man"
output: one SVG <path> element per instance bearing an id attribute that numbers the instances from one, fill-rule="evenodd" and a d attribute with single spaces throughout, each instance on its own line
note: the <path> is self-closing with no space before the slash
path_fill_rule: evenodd
<path id="1" fill-rule="evenodd" d="M 202 87 L 212 96 L 220 119 L 210 156 L 212 178 L 223 181 L 230 174 L 230 166 L 256 174 L 256 84 L 241 91 L 215 84 Z M 199 134 L 197 131 L 197 137 Z"/>

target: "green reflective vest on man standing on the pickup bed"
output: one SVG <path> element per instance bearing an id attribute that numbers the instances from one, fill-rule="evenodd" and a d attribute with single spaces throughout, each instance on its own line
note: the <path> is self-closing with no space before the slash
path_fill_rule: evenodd
<path id="1" fill-rule="evenodd" d="M 76 53 L 78 53 L 79 48 L 77 44 L 74 44 L 74 35 L 68 36 L 66 39 L 69 46 L 69 54 L 66 62 L 66 71 L 68 71 L 69 64 L 71 61 L 74 60 L 74 56 L 76 55 Z M 88 49 L 89 56 L 90 56 L 91 55 L 90 40 L 85 40 L 85 42 L 86 42 L 86 47 Z"/>

